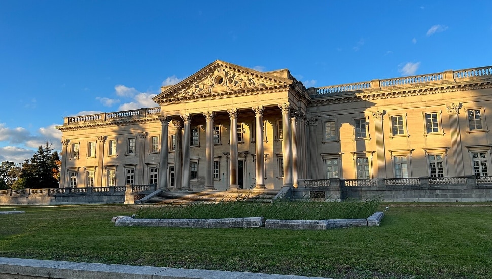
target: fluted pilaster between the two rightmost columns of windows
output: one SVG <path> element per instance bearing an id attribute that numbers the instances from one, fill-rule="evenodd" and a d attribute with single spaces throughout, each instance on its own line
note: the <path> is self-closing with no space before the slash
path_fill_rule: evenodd
<path id="1" fill-rule="evenodd" d="M 447 104 L 446 109 L 449 114 L 449 126 L 451 128 L 451 146 L 453 151 L 453 163 L 454 163 L 454 175 L 464 176 L 465 170 L 463 168 L 463 153 L 461 145 L 460 123 L 458 121 L 458 110 L 461 104 Z"/>

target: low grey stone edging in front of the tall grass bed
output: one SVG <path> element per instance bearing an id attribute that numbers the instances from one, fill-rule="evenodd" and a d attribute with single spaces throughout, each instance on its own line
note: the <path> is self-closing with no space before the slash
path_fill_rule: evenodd
<path id="1" fill-rule="evenodd" d="M 329 219 L 329 220 L 277 220 L 263 217 L 223 218 L 223 219 L 136 219 L 131 216 L 115 216 L 111 222 L 118 227 L 145 226 L 167 228 L 266 228 L 297 230 L 328 230 L 350 227 L 379 226 L 384 212 L 378 211 L 367 219 Z"/>

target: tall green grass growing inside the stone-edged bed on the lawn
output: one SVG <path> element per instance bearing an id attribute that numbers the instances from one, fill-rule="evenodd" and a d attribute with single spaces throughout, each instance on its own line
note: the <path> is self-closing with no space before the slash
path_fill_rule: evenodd
<path id="1" fill-rule="evenodd" d="M 377 211 L 380 199 L 364 202 L 344 200 L 331 202 L 273 202 L 253 203 L 245 201 L 221 201 L 218 203 L 194 203 L 187 205 L 140 207 L 136 218 L 239 218 L 258 217 L 283 220 L 324 220 L 367 218 Z"/>

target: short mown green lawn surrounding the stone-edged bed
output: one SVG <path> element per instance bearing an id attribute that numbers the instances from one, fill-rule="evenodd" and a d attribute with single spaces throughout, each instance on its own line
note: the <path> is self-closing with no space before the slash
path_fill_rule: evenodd
<path id="1" fill-rule="evenodd" d="M 327 231 L 115 227 L 113 216 L 139 207 L 16 206 L 26 213 L 0 215 L 0 256 L 335 278 L 492 278 L 491 203 L 414 205 L 389 204 L 380 227 Z"/>

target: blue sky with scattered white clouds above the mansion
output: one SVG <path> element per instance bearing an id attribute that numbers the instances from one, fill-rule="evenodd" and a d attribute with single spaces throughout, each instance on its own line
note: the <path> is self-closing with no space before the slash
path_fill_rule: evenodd
<path id="1" fill-rule="evenodd" d="M 428 3 L 429 2 L 429 3 Z M 492 65 L 490 1 L 0 1 L 0 162 L 219 59 L 307 87 Z"/>

